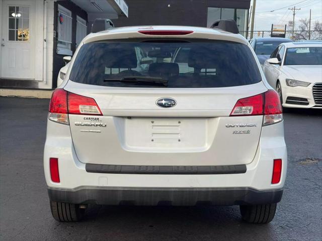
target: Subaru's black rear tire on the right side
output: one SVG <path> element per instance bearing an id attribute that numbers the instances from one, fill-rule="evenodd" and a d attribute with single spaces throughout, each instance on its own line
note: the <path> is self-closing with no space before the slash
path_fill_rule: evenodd
<path id="1" fill-rule="evenodd" d="M 259 205 L 240 205 L 241 217 L 249 223 L 269 223 L 273 220 L 276 203 Z"/>

